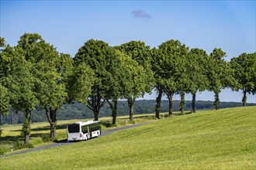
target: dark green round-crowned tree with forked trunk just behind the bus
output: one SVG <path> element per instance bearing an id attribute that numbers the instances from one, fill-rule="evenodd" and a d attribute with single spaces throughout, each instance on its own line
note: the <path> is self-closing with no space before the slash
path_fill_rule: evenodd
<path id="1" fill-rule="evenodd" d="M 92 94 L 89 95 L 87 105 L 93 111 L 95 121 L 99 120 L 99 110 L 106 104 L 106 97 L 115 83 L 115 77 L 111 73 L 112 65 L 116 64 L 115 59 L 115 51 L 109 44 L 94 39 L 85 42 L 74 56 L 74 66 L 85 62 L 95 73 Z"/>

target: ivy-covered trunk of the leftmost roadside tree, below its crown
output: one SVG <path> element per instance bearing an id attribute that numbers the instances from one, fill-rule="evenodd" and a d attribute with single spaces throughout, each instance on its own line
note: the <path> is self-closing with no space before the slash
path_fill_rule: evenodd
<path id="1" fill-rule="evenodd" d="M 24 134 L 24 143 L 29 144 L 29 134 L 30 134 L 30 121 L 31 121 L 31 110 L 26 110 L 24 113 L 24 121 L 22 125 L 22 134 Z"/>

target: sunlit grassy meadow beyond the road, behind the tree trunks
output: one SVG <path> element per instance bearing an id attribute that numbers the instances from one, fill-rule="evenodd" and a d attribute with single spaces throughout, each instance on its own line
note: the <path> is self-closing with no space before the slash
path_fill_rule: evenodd
<path id="1" fill-rule="evenodd" d="M 124 120 L 129 118 L 126 116 L 118 117 L 116 125 L 112 126 L 112 117 L 101 117 L 102 131 L 108 131 L 112 128 L 119 128 L 126 126 Z M 130 124 L 138 124 L 154 119 L 154 114 L 134 115 L 134 121 L 128 121 Z M 67 124 L 72 124 L 76 121 L 88 121 L 88 119 L 57 121 L 57 141 L 67 140 Z M 43 145 L 53 143 L 50 141 L 50 125 L 48 122 L 40 122 L 31 124 L 31 133 L 29 138 L 29 145 L 24 145 L 24 136 L 21 135 L 22 124 L 5 124 L 2 127 L 3 134 L 0 138 L 0 153 L 6 155 L 12 151 L 20 151 L 26 148 L 36 148 Z M 1 155 L 1 154 L 0 154 Z"/>

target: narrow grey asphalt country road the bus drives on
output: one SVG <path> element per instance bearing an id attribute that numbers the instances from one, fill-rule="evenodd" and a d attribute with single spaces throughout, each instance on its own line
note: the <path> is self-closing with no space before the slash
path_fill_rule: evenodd
<path id="1" fill-rule="evenodd" d="M 111 134 L 111 133 L 116 132 L 116 131 L 121 131 L 121 130 L 125 130 L 125 129 L 135 128 L 135 127 L 138 127 L 138 126 L 141 126 L 141 125 L 144 125 L 144 124 L 149 124 L 150 122 L 152 122 L 152 121 L 148 121 L 148 122 L 144 122 L 144 123 L 140 123 L 140 124 L 127 125 L 127 126 L 124 126 L 124 127 L 121 127 L 121 128 L 114 128 L 114 129 L 111 129 L 111 130 L 108 130 L 108 131 L 103 131 L 102 136 L 105 136 L 107 134 Z M 58 141 L 56 143 L 41 146 L 41 147 L 38 147 L 38 148 L 28 148 L 26 150 L 8 153 L 6 155 L 0 156 L 0 158 L 6 157 L 6 156 L 12 156 L 12 155 L 20 155 L 20 154 L 24 154 L 26 152 L 31 152 L 31 151 L 40 151 L 40 150 L 43 150 L 43 149 L 46 149 L 46 148 L 53 148 L 53 147 L 60 147 L 60 146 L 63 146 L 63 145 L 74 145 L 74 144 L 77 144 L 77 142 Z"/>

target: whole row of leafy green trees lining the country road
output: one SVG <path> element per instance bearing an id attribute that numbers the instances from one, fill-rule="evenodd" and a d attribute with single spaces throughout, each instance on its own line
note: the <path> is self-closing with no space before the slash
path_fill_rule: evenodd
<path id="1" fill-rule="evenodd" d="M 57 52 L 37 33 L 25 33 L 14 47 L 1 38 L 0 45 L 0 113 L 8 114 L 10 108 L 24 113 L 22 134 L 26 144 L 32 110 L 45 110 L 50 138 L 55 139 L 57 109 L 74 100 L 87 104 L 95 120 L 101 107 L 109 103 L 112 124 L 116 124 L 117 100 L 128 101 L 133 121 L 135 100 L 153 89 L 157 90 L 157 118 L 163 94 L 168 97 L 171 116 L 172 97 L 177 93 L 182 113 L 185 93 L 192 93 L 194 112 L 198 91 L 213 91 L 216 109 L 223 88 L 243 90 L 244 105 L 246 93 L 255 93 L 256 53 L 243 53 L 227 62 L 222 49 L 213 49 L 208 55 L 203 49 L 189 49 L 173 39 L 153 49 L 141 41 L 112 47 L 90 39 L 72 58 Z"/>

